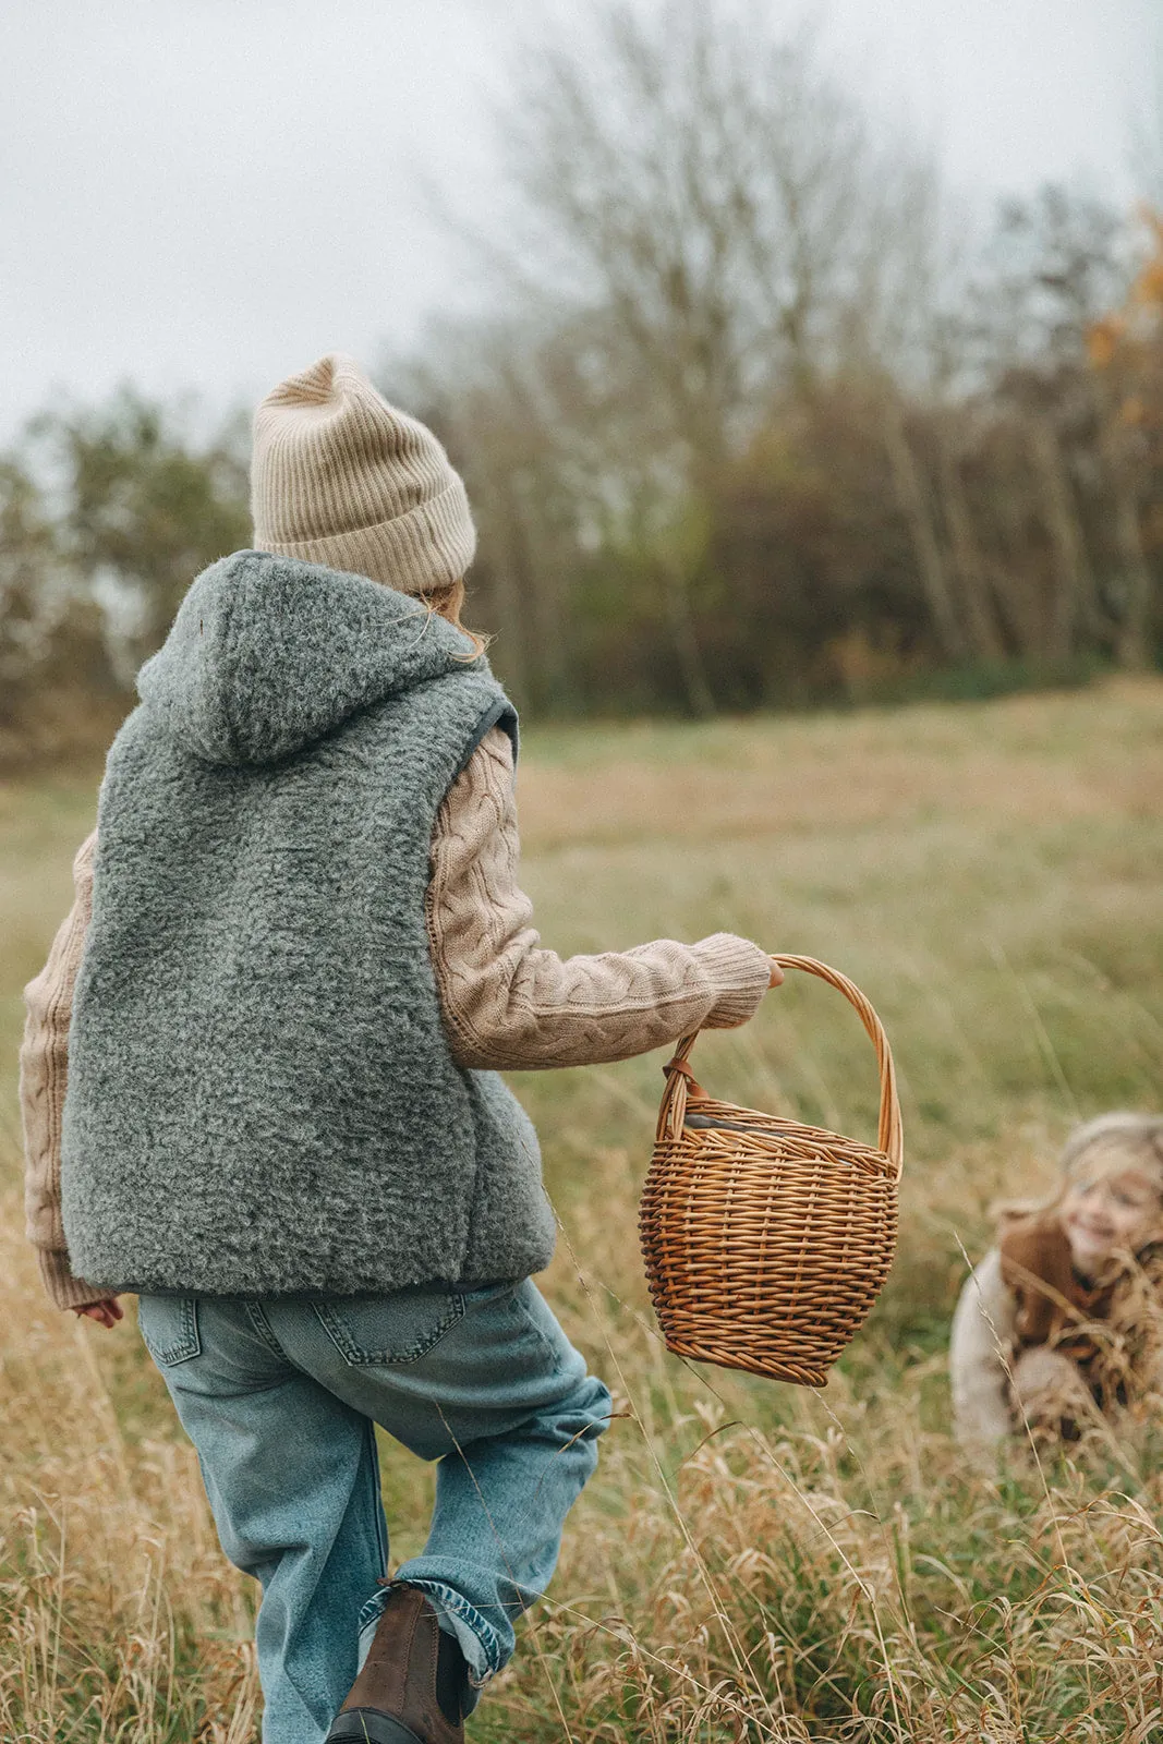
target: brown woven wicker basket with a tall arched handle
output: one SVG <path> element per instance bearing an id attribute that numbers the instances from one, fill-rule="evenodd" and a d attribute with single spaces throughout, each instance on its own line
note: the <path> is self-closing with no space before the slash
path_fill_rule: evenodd
<path id="1" fill-rule="evenodd" d="M 668 1062 L 642 1195 L 642 1249 L 668 1350 L 825 1386 L 893 1263 L 903 1134 L 881 1018 L 844 975 L 778 956 L 837 987 L 860 1012 L 881 1066 L 877 1148 L 732 1102 Z"/>

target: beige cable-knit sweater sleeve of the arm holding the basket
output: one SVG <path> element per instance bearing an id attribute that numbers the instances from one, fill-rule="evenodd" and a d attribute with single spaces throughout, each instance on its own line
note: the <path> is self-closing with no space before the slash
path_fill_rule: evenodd
<path id="1" fill-rule="evenodd" d="M 595 1066 L 755 1013 L 771 957 L 732 933 L 696 945 L 659 938 L 565 961 L 546 950 L 518 884 L 518 851 L 513 750 L 493 729 L 453 783 L 432 832 L 429 940 L 459 1066 Z"/>

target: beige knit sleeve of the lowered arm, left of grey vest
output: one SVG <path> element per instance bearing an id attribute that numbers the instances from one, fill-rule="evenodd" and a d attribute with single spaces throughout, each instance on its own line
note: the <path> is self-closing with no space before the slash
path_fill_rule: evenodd
<path id="1" fill-rule="evenodd" d="M 92 914 L 96 834 L 73 860 L 73 907 L 61 923 L 49 961 L 24 989 L 21 1121 L 24 1127 L 24 1226 L 37 1247 L 40 1277 L 58 1308 L 84 1308 L 103 1291 L 73 1277 L 61 1224 L 61 1116 L 68 1085 L 68 1025 L 73 987 Z"/>

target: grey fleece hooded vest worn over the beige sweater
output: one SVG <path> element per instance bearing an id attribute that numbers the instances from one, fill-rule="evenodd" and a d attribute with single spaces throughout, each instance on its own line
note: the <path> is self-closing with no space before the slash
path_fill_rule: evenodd
<path id="1" fill-rule="evenodd" d="M 516 717 L 391 588 L 241 551 L 190 588 L 108 757 L 61 1149 L 73 1270 L 110 1291 L 525 1277 L 534 1128 L 445 1036 L 436 811 Z"/>

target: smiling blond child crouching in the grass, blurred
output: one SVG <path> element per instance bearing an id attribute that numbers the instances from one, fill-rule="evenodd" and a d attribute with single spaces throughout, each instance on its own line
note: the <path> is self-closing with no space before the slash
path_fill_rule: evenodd
<path id="1" fill-rule="evenodd" d="M 1163 1385 L 1163 1118 L 1100 1114 L 1062 1151 L 1050 1203 L 1003 1214 L 954 1315 L 959 1441 L 985 1453 L 1024 1425 L 1076 1437 Z"/>

